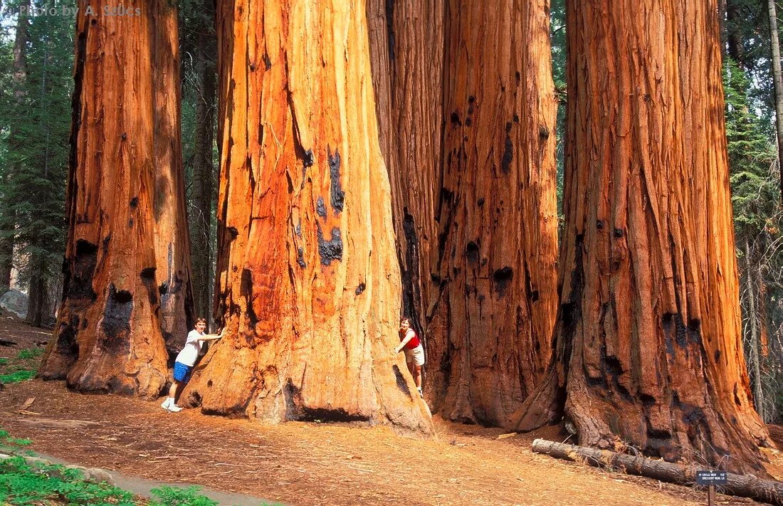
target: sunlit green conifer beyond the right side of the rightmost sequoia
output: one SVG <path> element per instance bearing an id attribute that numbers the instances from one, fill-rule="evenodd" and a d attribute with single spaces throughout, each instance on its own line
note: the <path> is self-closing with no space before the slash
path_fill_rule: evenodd
<path id="1" fill-rule="evenodd" d="M 767 285 L 783 283 L 783 211 L 774 177 L 777 153 L 748 98 L 745 70 L 728 58 L 723 65 L 731 201 L 741 274 L 743 334 L 756 410 L 775 418 L 780 375 L 779 346 L 770 345 Z M 774 336 L 773 336 L 774 338 Z"/>

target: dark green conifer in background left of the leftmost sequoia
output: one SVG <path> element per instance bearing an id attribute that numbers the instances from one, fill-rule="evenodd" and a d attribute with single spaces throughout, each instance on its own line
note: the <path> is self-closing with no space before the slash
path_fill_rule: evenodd
<path id="1" fill-rule="evenodd" d="M 13 9 L 24 12 L 43 5 L 59 9 L 74 2 L 19 2 Z M 2 236 L 5 244 L 16 244 L 19 282 L 28 288 L 27 321 L 34 325 L 53 313 L 49 294 L 59 286 L 62 265 L 73 26 L 68 16 L 18 16 L 14 88 L 4 103 L 10 127 L 5 139 Z M 6 261 L 7 253 L 2 253 Z"/>

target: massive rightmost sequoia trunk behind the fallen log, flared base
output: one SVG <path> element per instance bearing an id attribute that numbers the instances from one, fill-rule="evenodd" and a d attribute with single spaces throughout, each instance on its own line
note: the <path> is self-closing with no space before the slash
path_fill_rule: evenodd
<path id="1" fill-rule="evenodd" d="M 759 472 L 740 339 L 716 5 L 568 4 L 556 358 L 511 425 Z M 608 78 L 611 76 L 611 78 Z"/>

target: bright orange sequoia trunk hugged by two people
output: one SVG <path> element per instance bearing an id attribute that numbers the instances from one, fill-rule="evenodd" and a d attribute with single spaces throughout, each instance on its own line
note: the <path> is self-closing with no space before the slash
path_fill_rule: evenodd
<path id="1" fill-rule="evenodd" d="M 227 334 L 183 402 L 431 433 L 391 354 L 399 268 L 363 2 L 222 2 L 218 76 Z"/>

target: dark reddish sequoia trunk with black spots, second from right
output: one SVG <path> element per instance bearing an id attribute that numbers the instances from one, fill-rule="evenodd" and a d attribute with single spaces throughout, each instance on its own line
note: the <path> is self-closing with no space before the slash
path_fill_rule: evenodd
<path id="1" fill-rule="evenodd" d="M 431 405 L 506 425 L 543 374 L 557 309 L 556 100 L 547 2 L 446 5 Z"/>

